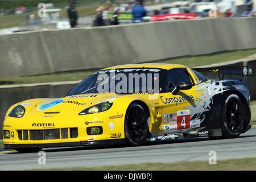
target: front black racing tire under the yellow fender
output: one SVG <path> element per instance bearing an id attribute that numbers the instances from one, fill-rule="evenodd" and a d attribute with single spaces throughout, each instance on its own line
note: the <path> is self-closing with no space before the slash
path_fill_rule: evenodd
<path id="1" fill-rule="evenodd" d="M 130 146 L 140 146 L 146 140 L 149 130 L 147 114 L 137 103 L 131 104 L 125 115 L 125 139 Z"/>

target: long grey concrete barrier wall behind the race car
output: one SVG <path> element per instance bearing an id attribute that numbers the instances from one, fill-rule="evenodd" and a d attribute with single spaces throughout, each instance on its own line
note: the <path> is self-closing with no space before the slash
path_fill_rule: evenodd
<path id="1" fill-rule="evenodd" d="M 255 30 L 256 18 L 209 18 L 1 35 L 0 76 L 256 48 Z"/>

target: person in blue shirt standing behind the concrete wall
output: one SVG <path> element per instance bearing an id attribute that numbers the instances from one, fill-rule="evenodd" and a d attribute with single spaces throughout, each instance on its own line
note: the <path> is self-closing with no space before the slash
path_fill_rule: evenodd
<path id="1" fill-rule="evenodd" d="M 133 13 L 133 23 L 140 23 L 142 22 L 142 18 L 146 16 L 146 10 L 144 9 L 142 1 L 135 1 L 135 6 L 132 9 Z"/>

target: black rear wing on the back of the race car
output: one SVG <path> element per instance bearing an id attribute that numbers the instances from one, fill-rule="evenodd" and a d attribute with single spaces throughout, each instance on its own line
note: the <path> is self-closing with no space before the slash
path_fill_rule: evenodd
<path id="1" fill-rule="evenodd" d="M 211 68 L 192 68 L 197 72 L 214 72 L 218 73 L 220 80 L 224 79 L 225 75 L 240 75 L 240 76 L 253 76 L 253 67 L 211 67 Z M 221 75 L 222 73 L 222 79 Z"/>

